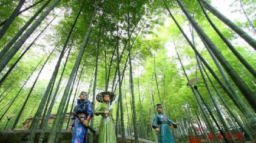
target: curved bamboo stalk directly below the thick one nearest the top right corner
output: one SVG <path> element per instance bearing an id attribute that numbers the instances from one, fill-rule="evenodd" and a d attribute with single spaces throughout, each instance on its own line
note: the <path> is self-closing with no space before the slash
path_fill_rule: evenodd
<path id="1" fill-rule="evenodd" d="M 234 55 L 237 57 L 237 59 L 244 65 L 244 67 L 246 67 L 246 69 L 254 76 L 254 78 L 256 78 L 256 71 L 254 70 L 254 68 L 243 58 L 243 56 L 240 55 L 240 53 L 237 52 L 237 50 L 235 49 L 235 47 L 233 47 L 233 45 L 231 44 L 231 42 L 229 42 L 224 35 L 220 32 L 220 30 L 218 30 L 218 28 L 215 26 L 215 24 L 212 22 L 212 20 L 209 18 L 209 16 L 207 15 L 206 11 L 204 10 L 203 5 L 201 4 L 200 0 L 198 0 L 198 2 L 201 5 L 201 8 L 204 12 L 204 15 L 206 16 L 207 20 L 209 21 L 209 23 L 212 25 L 212 28 L 214 28 L 215 32 L 220 36 L 220 38 L 225 42 L 225 44 L 227 45 L 227 47 L 229 47 L 229 49 L 232 51 L 232 53 L 234 53 Z"/>

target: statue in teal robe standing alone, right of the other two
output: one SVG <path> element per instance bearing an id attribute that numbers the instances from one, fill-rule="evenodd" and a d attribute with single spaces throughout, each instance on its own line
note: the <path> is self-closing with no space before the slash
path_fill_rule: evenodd
<path id="1" fill-rule="evenodd" d="M 158 113 L 155 114 L 152 121 L 152 128 L 158 134 L 158 143 L 174 143 L 174 137 L 172 135 L 173 127 L 177 127 L 177 123 L 173 122 L 166 115 L 163 114 L 163 107 L 161 104 L 157 104 Z"/>

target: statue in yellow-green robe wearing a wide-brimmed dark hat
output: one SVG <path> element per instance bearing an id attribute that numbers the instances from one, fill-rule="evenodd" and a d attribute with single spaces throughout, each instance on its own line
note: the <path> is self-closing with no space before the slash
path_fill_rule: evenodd
<path id="1" fill-rule="evenodd" d="M 114 101 L 115 95 L 109 91 L 99 93 L 96 100 L 101 102 L 95 109 L 96 116 L 101 115 L 101 123 L 99 125 L 99 143 L 116 143 L 115 125 L 112 113 L 109 110 L 110 102 Z"/>

